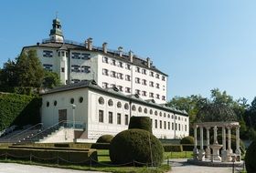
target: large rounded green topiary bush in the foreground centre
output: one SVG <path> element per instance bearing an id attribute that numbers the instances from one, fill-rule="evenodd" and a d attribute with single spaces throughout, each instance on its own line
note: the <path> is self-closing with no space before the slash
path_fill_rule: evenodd
<path id="1" fill-rule="evenodd" d="M 144 163 L 136 166 L 145 164 L 159 166 L 164 158 L 164 148 L 152 133 L 143 129 L 128 129 L 113 137 L 110 158 L 114 164 L 136 161 L 135 163 Z"/>

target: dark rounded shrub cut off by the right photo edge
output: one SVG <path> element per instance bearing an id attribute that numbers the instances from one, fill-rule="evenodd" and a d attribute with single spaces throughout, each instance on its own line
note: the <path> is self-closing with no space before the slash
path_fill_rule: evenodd
<path id="1" fill-rule="evenodd" d="M 255 173 L 256 172 L 256 141 L 251 142 L 251 145 L 246 151 L 246 155 L 244 158 L 245 166 L 247 173 Z"/>

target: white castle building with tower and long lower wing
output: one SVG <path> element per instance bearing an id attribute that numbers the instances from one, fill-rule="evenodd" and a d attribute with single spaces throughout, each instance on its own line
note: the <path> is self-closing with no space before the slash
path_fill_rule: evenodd
<path id="1" fill-rule="evenodd" d="M 44 68 L 56 72 L 66 84 L 42 94 L 45 127 L 62 121 L 73 122 L 73 127 L 80 124 L 82 130 L 74 130 L 71 136 L 82 141 L 116 135 L 127 129 L 130 117 L 146 116 L 156 137 L 188 136 L 187 113 L 165 107 L 168 76 L 150 58 L 125 53 L 122 47 L 110 50 L 107 43 L 93 46 L 91 38 L 84 44 L 66 40 L 58 18 L 52 26 L 49 39 L 22 50 L 37 50 Z"/>

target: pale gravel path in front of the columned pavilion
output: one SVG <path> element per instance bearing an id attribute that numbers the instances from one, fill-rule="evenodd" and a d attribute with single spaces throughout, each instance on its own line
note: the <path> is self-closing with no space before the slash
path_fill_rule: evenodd
<path id="1" fill-rule="evenodd" d="M 176 158 L 170 159 L 172 170 L 170 173 L 231 173 L 232 168 L 216 168 L 189 165 L 187 159 Z"/>

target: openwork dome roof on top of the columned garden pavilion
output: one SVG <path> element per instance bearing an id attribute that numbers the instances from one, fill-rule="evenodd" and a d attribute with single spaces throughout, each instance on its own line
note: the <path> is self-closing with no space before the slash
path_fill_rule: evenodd
<path id="1" fill-rule="evenodd" d="M 196 117 L 196 122 L 227 122 L 237 121 L 234 111 L 224 104 L 208 104 L 202 107 Z"/>

